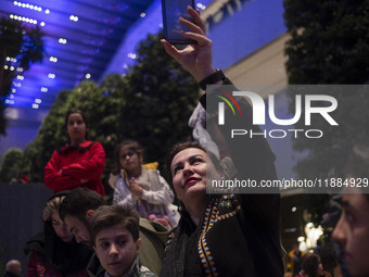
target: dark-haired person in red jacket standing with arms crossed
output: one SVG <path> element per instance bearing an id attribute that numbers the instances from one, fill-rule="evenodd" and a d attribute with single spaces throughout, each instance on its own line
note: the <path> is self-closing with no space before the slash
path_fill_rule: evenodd
<path id="1" fill-rule="evenodd" d="M 44 166 L 44 184 L 54 190 L 86 187 L 105 196 L 101 175 L 105 166 L 105 151 L 100 142 L 87 140 L 88 123 L 79 110 L 69 110 L 65 116 L 69 144 L 54 151 Z"/>

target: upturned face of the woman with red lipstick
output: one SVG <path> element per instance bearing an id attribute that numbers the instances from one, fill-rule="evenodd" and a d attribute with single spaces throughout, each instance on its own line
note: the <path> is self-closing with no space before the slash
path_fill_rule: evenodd
<path id="1" fill-rule="evenodd" d="M 212 163 L 207 169 L 216 173 Z M 206 152 L 188 148 L 178 152 L 170 166 L 173 186 L 184 206 L 192 201 L 204 201 L 206 197 Z"/>

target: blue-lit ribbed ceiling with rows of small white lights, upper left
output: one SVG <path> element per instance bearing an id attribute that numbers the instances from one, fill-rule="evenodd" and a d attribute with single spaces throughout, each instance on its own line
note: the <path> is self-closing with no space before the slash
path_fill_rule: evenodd
<path id="1" fill-rule="evenodd" d="M 39 25 L 46 45 L 43 62 L 13 83 L 9 106 L 48 111 L 58 92 L 84 79 L 99 81 L 128 28 L 153 1 L 0 0 L 0 15 Z"/>

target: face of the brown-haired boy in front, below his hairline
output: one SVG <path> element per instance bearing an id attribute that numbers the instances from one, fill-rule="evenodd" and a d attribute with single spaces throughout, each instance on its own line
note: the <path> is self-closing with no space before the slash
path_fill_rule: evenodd
<path id="1" fill-rule="evenodd" d="M 132 235 L 120 225 L 102 229 L 93 247 L 102 267 L 113 277 L 126 274 L 133 264 L 141 239 L 133 241 Z"/>

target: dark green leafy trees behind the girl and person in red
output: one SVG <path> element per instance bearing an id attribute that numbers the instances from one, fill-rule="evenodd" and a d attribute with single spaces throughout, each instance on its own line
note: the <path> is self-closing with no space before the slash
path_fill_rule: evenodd
<path id="1" fill-rule="evenodd" d="M 199 87 L 166 54 L 160 38 L 150 35 L 140 43 L 137 64 L 126 76 L 111 74 L 100 85 L 82 81 L 58 95 L 38 135 L 25 150 L 30 181 L 43 181 L 43 167 L 53 151 L 68 142 L 64 117 L 71 108 L 85 112 L 88 139 L 100 141 L 105 149 L 106 190 L 114 149 L 122 140 L 138 140 L 145 148 L 145 160 L 163 165 L 171 144 L 191 139 L 188 119 L 199 100 Z"/>

